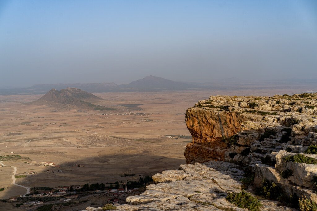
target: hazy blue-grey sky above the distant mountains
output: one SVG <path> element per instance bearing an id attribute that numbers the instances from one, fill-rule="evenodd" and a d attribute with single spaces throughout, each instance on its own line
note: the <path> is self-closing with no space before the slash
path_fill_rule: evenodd
<path id="1" fill-rule="evenodd" d="M 317 78 L 317 1 L 0 1 L 0 87 Z"/>

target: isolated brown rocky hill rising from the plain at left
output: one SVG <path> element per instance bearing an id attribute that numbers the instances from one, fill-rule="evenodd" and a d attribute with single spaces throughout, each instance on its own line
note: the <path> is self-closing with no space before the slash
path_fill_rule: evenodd
<path id="1" fill-rule="evenodd" d="M 107 110 L 107 108 L 103 106 L 91 103 L 100 100 L 103 99 L 81 89 L 67 88 L 60 91 L 51 89 L 40 99 L 30 104 L 48 105 L 49 107 L 64 109 Z"/>

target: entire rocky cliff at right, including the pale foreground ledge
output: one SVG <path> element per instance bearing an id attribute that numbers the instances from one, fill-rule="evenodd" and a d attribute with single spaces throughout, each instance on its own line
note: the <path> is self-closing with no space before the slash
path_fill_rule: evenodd
<path id="1" fill-rule="evenodd" d="M 187 164 L 117 208 L 315 211 L 316 115 L 317 94 L 199 101 L 186 112 Z"/>

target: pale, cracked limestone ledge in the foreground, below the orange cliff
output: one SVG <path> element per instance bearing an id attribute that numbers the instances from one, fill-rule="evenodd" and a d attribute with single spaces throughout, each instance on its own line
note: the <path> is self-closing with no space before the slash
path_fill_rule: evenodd
<path id="1" fill-rule="evenodd" d="M 240 179 L 244 172 L 241 166 L 223 161 L 210 161 L 204 164 L 184 164 L 179 170 L 163 171 L 153 179 L 159 179 L 159 184 L 151 184 L 140 195 L 128 196 L 126 204 L 117 206 L 118 210 L 236 210 L 238 208 L 225 198 L 229 192 L 240 192 Z M 175 175 L 186 175 L 175 179 Z M 164 179 L 166 180 L 164 181 Z M 261 200 L 262 210 L 294 210 L 279 205 L 275 201 Z M 98 208 L 87 210 L 98 210 Z M 100 208 L 99 208 L 100 210 Z"/>

